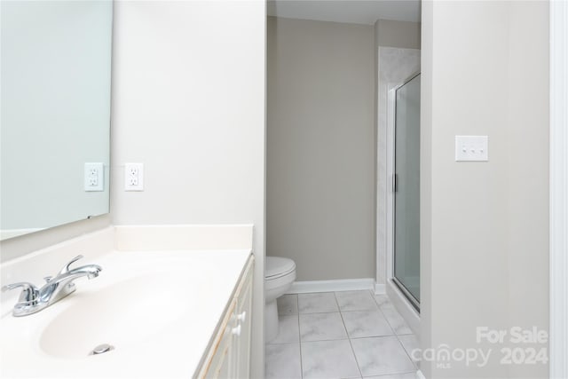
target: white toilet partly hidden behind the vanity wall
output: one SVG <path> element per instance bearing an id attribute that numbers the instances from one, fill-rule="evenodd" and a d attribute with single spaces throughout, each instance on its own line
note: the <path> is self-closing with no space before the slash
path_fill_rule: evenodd
<path id="1" fill-rule="evenodd" d="M 278 308 L 276 299 L 284 295 L 296 280 L 296 264 L 292 259 L 266 257 L 264 272 L 264 340 L 270 342 L 278 336 Z"/>

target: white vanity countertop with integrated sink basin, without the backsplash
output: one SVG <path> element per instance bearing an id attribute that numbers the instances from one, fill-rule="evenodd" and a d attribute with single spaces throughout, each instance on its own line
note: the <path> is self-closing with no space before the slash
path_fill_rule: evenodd
<path id="1" fill-rule="evenodd" d="M 74 265 L 102 266 L 98 278 L 76 280 L 75 293 L 41 312 L 1 319 L 0 375 L 190 378 L 250 254 L 113 250 L 85 257 Z M 88 355 L 100 343 L 114 350 Z"/>

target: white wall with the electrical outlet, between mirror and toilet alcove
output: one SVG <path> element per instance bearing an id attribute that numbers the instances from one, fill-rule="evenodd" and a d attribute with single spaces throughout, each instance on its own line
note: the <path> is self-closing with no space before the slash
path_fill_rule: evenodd
<path id="1" fill-rule="evenodd" d="M 114 14 L 114 223 L 255 225 L 253 377 L 264 370 L 264 7 L 124 1 Z M 144 163 L 144 192 L 122 190 L 124 162 Z"/>

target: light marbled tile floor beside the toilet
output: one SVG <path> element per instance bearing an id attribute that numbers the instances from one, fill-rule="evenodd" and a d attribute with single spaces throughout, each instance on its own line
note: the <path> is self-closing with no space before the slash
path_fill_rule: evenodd
<path id="1" fill-rule="evenodd" d="M 414 379 L 416 336 L 387 296 L 371 291 L 285 295 L 280 333 L 265 346 L 267 379 Z"/>

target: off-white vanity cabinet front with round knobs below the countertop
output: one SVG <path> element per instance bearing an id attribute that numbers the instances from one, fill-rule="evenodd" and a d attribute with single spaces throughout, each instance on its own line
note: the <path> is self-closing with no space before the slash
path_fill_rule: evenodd
<path id="1" fill-rule="evenodd" d="M 198 378 L 248 378 L 250 375 L 250 334 L 252 312 L 252 277 L 254 257 L 236 286 L 231 303 L 205 353 Z"/>

